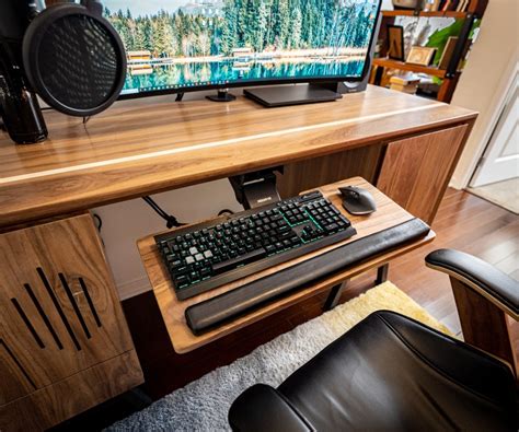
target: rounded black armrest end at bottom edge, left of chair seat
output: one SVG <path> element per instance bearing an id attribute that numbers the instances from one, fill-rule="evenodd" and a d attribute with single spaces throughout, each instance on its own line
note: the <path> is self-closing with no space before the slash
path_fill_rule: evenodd
<path id="1" fill-rule="evenodd" d="M 243 392 L 229 410 L 233 431 L 308 432 L 314 429 L 275 388 L 256 384 Z"/>

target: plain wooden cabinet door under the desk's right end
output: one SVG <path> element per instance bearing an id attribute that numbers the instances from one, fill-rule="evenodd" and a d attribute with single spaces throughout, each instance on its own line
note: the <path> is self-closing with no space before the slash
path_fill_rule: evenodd
<path id="1" fill-rule="evenodd" d="M 377 187 L 413 215 L 432 223 L 465 133 L 462 125 L 390 142 Z"/>

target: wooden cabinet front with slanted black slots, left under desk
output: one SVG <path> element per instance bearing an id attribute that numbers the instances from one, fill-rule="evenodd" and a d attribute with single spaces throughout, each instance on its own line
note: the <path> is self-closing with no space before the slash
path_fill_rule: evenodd
<path id="1" fill-rule="evenodd" d="M 47 428 L 142 382 L 136 355 L 109 376 L 135 350 L 90 214 L 0 234 L 0 430 Z"/>

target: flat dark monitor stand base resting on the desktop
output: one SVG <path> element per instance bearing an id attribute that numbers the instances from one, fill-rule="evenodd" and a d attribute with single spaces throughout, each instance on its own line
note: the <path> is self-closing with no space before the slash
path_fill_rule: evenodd
<path id="1" fill-rule="evenodd" d="M 243 94 L 266 107 L 313 104 L 343 97 L 341 93 L 314 84 L 245 89 Z"/>

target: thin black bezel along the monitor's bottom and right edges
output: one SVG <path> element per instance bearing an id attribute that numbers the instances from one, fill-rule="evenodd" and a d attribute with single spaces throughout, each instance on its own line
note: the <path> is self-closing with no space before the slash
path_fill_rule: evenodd
<path id="1" fill-rule="evenodd" d="M 333 84 L 343 81 L 348 82 L 360 82 L 362 81 L 369 69 L 371 67 L 371 48 L 374 43 L 373 39 L 377 36 L 377 28 L 379 25 L 379 20 L 382 19 L 381 8 L 382 0 L 378 0 L 379 4 L 377 8 L 377 15 L 373 22 L 373 31 L 371 32 L 371 38 L 368 44 L 366 60 L 364 63 L 362 73 L 360 77 L 327 77 L 327 78 L 287 78 L 287 79 L 265 79 L 265 80 L 253 80 L 253 81 L 243 81 L 243 82 L 229 82 L 227 84 L 204 84 L 188 87 L 177 87 L 177 89 L 161 89 L 161 90 L 150 90 L 146 92 L 136 92 L 136 93 L 120 93 L 118 96 L 119 101 L 134 100 L 139 97 L 152 97 L 152 96 L 162 96 L 168 94 L 178 94 L 178 93 L 192 93 L 192 92 L 203 92 L 208 90 L 223 90 L 223 89 L 239 89 L 239 87 L 251 87 L 251 86 L 261 86 L 261 85 L 280 85 L 280 84 Z M 128 73 L 128 71 L 126 71 Z"/>

